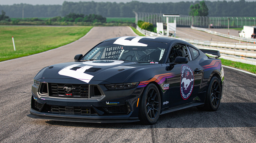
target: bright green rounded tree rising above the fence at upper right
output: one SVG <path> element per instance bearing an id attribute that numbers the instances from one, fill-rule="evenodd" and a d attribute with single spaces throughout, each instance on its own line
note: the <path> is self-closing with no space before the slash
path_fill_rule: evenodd
<path id="1" fill-rule="evenodd" d="M 199 4 L 191 5 L 189 15 L 191 16 L 207 16 L 208 15 L 208 8 L 204 1 L 200 2 Z"/>

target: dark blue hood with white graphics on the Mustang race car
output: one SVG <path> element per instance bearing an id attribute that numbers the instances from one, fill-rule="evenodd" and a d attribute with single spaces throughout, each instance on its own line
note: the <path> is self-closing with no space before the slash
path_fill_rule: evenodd
<path id="1" fill-rule="evenodd" d="M 39 71 L 34 79 L 44 79 L 45 82 L 47 79 L 59 79 L 59 81 L 60 79 L 76 79 L 80 83 L 89 84 L 97 84 L 96 81 L 124 83 L 131 75 L 142 69 L 159 66 L 161 64 L 119 60 L 76 61 L 46 67 Z"/>

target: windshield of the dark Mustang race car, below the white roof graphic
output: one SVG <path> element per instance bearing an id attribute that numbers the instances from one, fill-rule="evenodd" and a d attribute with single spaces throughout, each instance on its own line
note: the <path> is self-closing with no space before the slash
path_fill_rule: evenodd
<path id="1" fill-rule="evenodd" d="M 82 60 L 127 60 L 144 63 L 162 63 L 165 48 L 149 46 L 123 46 L 99 44 Z"/>

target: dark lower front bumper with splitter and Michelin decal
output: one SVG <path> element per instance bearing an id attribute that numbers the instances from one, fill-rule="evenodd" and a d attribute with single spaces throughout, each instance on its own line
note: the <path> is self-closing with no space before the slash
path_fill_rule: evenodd
<path id="1" fill-rule="evenodd" d="M 139 121 L 137 106 L 143 88 L 122 98 L 110 100 L 61 99 L 40 97 L 32 92 L 28 117 L 75 122 L 135 122 Z M 122 94 L 122 92 L 120 92 Z"/>

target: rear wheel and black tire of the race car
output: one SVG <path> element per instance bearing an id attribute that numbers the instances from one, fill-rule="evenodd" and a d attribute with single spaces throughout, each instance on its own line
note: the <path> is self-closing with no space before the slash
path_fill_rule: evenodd
<path id="1" fill-rule="evenodd" d="M 216 76 L 212 77 L 207 87 L 204 106 L 197 108 L 205 111 L 216 111 L 221 102 L 221 90 L 220 80 Z"/>

